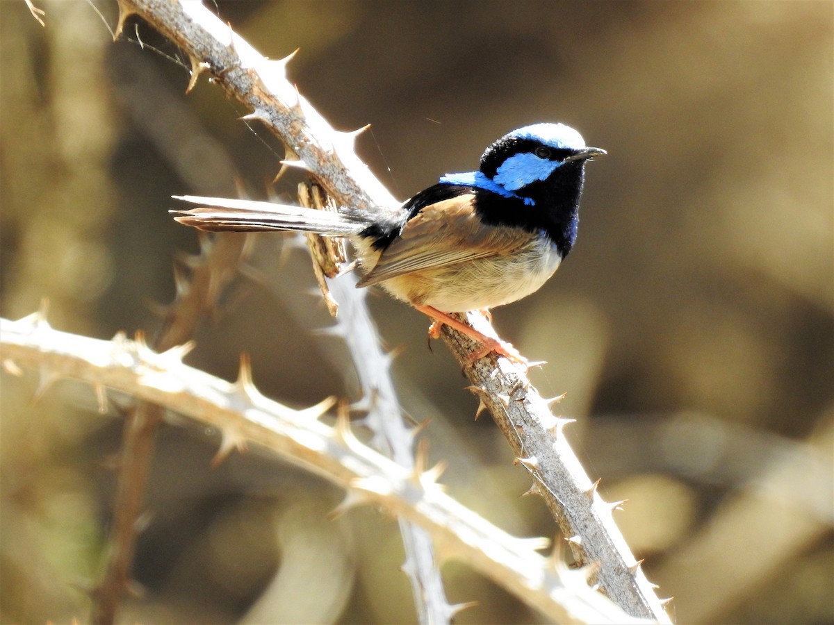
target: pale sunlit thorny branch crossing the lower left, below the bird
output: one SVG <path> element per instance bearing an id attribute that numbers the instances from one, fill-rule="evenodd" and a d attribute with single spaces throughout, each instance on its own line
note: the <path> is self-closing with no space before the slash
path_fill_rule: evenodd
<path id="1" fill-rule="evenodd" d="M 339 511 L 373 504 L 419 524 L 446 557 L 467 562 L 556 622 L 639 622 L 590 589 L 587 576 L 595 567 L 568 569 L 561 549 L 551 557 L 536 552 L 546 540 L 512 537 L 460 505 L 436 483 L 437 468 L 424 470 L 425 458 L 405 468 L 361 443 L 344 416 L 325 425 L 319 418 L 331 399 L 296 411 L 265 398 L 245 360 L 237 382 L 228 383 L 183 364 L 182 348 L 154 353 L 124 336 L 102 341 L 58 332 L 41 313 L 0 319 L 0 338 L 9 372 L 34 369 L 49 380 L 112 388 L 217 428 L 221 449 L 246 442 L 269 449 L 345 488 Z"/>

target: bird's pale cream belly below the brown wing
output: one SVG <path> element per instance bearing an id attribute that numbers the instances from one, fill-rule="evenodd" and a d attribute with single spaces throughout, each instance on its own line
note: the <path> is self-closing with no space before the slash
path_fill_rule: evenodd
<path id="1" fill-rule="evenodd" d="M 535 293 L 560 262 L 555 246 L 540 239 L 513 254 L 423 269 L 381 284 L 395 298 L 416 306 L 465 313 L 494 308 Z"/>

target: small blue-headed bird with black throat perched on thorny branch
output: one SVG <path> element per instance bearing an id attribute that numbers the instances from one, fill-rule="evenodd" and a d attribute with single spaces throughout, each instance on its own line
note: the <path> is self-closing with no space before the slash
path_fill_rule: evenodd
<path id="1" fill-rule="evenodd" d="M 445 313 L 515 302 L 537 291 L 576 239 L 585 162 L 605 154 L 573 128 L 537 123 L 486 148 L 475 172 L 447 173 L 391 213 L 338 213 L 266 202 L 179 197 L 175 219 L 208 231 L 294 230 L 348 238 L 363 277 L 483 348 L 525 363 L 512 346 Z"/>

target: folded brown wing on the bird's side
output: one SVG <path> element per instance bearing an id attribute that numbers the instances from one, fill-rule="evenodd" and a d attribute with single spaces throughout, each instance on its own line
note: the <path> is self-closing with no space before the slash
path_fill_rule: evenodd
<path id="1" fill-rule="evenodd" d="M 499 229 L 482 223 L 472 200 L 472 194 L 467 193 L 423 208 L 409 219 L 402 234 L 384 249 L 358 286 L 367 287 L 422 269 L 509 254 L 530 242 L 530 233 L 518 228 Z"/>

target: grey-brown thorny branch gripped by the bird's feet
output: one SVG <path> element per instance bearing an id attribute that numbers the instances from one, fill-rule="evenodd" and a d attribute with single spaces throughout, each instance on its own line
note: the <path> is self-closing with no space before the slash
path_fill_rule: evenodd
<path id="1" fill-rule="evenodd" d="M 193 79 L 210 72 L 216 82 L 283 138 L 299 160 L 288 166 L 309 171 L 340 204 L 383 211 L 395 203 L 353 150 L 354 133 L 338 133 L 286 81 L 285 62 L 269 62 L 220 22 L 200 2 L 118 0 L 120 18 L 138 13 L 176 42 L 191 58 Z M 470 318 L 481 332 L 494 333 L 485 319 Z M 448 328 L 446 343 L 466 365 L 475 349 Z M 576 559 L 592 563 L 600 587 L 626 612 L 668 622 L 668 617 L 602 502 L 561 433 L 565 421 L 550 414 L 525 373 L 503 359 L 483 358 L 465 366 L 473 390 L 490 410 L 521 463 L 530 473 L 530 493 L 545 498 Z M 356 484 L 354 484 L 356 487 Z"/>

